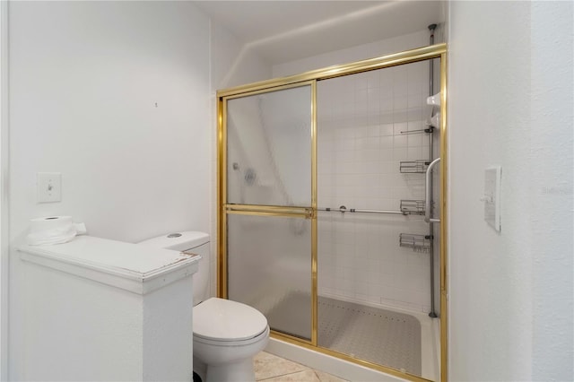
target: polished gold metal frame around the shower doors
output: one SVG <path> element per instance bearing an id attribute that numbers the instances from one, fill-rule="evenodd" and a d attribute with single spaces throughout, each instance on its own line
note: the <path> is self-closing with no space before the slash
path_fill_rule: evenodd
<path id="1" fill-rule="evenodd" d="M 432 58 L 440 58 L 440 377 L 441 382 L 448 380 L 447 373 L 447 200 L 448 200 L 448 158 L 447 158 L 447 45 L 436 44 L 429 47 L 406 50 L 387 56 L 370 58 L 351 64 L 328 66 L 303 74 L 275 78 L 262 82 L 217 91 L 217 295 L 227 298 L 227 215 L 239 213 L 257 216 L 288 216 L 311 219 L 311 340 L 302 340 L 289 334 L 272 331 L 271 336 L 287 343 L 293 343 L 310 350 L 348 360 L 370 369 L 413 381 L 428 381 L 426 378 L 388 368 L 376 363 L 359 360 L 344 353 L 319 347 L 317 345 L 317 81 L 358 74 L 389 66 L 404 65 Z M 269 205 L 227 204 L 227 103 L 226 100 L 245 97 L 268 91 L 279 91 L 293 87 L 309 85 L 311 87 L 311 207 L 282 207 Z"/>

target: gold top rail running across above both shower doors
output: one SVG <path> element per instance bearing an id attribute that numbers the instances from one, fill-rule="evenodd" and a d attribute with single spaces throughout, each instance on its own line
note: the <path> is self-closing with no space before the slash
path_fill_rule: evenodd
<path id="1" fill-rule="evenodd" d="M 406 50 L 392 55 L 370 58 L 346 65 L 334 65 L 322 69 L 312 70 L 303 74 L 296 74 L 282 78 L 274 78 L 261 82 L 248 83 L 229 89 L 217 91 L 217 97 L 227 97 L 231 95 L 243 94 L 250 91 L 272 90 L 272 88 L 283 85 L 290 85 L 297 82 L 309 80 L 326 80 L 327 78 L 340 77 L 347 74 L 367 72 L 381 69 L 387 66 L 409 64 L 429 58 L 439 57 L 447 51 L 447 44 L 435 44 L 429 47 Z"/>

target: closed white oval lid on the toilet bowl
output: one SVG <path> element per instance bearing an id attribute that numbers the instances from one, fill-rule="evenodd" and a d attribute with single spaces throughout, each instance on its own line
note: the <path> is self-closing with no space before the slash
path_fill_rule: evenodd
<path id="1" fill-rule="evenodd" d="M 210 340 L 248 340 L 265 332 L 267 319 L 240 302 L 211 298 L 194 307 L 194 335 Z"/>

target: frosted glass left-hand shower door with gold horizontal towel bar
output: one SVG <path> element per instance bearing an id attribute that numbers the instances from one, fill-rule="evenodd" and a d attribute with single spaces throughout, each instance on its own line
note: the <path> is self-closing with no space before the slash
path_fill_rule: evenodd
<path id="1" fill-rule="evenodd" d="M 314 83 L 222 100 L 227 297 L 312 339 Z"/>

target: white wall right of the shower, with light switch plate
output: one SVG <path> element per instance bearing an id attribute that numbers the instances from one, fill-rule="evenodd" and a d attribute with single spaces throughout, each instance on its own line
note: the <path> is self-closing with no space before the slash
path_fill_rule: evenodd
<path id="1" fill-rule="evenodd" d="M 572 12 L 450 3 L 450 380 L 574 378 Z M 479 201 L 491 165 L 500 233 Z"/>

